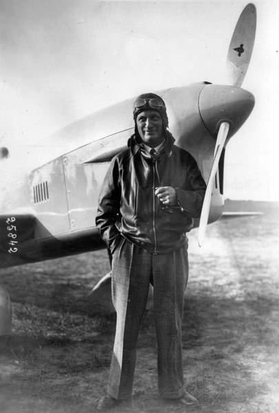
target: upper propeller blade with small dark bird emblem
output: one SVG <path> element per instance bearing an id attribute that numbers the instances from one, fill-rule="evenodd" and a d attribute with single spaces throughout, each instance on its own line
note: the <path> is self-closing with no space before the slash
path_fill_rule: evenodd
<path id="1" fill-rule="evenodd" d="M 240 14 L 227 54 L 228 84 L 240 87 L 248 70 L 256 34 L 256 7 L 249 3 Z"/>

